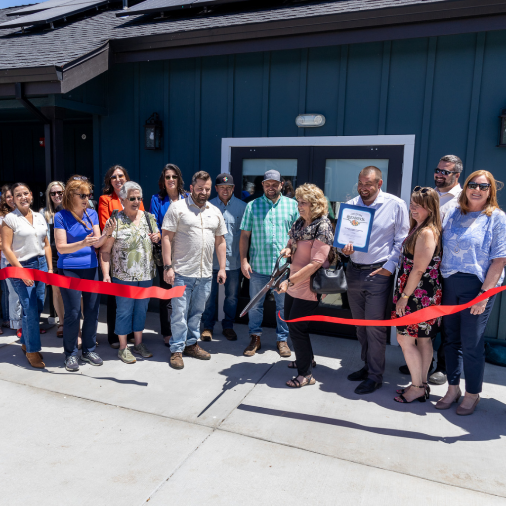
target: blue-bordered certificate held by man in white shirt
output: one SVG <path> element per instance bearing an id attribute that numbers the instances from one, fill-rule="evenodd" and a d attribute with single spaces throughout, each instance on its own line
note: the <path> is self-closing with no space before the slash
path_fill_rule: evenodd
<path id="1" fill-rule="evenodd" d="M 353 244 L 355 251 L 367 252 L 375 209 L 361 205 L 341 204 L 335 227 L 334 246 Z"/>

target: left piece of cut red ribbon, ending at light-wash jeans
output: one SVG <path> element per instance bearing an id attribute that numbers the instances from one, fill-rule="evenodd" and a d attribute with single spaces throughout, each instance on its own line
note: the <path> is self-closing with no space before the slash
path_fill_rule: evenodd
<path id="1" fill-rule="evenodd" d="M 164 290 L 158 286 L 141 288 L 139 286 L 129 286 L 116 283 L 106 283 L 104 281 L 93 281 L 90 279 L 70 278 L 60 274 L 39 271 L 38 269 L 25 269 L 22 267 L 4 267 L 0 269 L 0 279 L 20 278 L 31 279 L 33 281 L 42 281 L 60 288 L 70 288 L 72 290 L 89 291 L 92 293 L 102 293 L 104 295 L 114 295 L 126 297 L 128 299 L 174 299 L 181 297 L 186 286 L 175 286 L 170 290 Z"/>

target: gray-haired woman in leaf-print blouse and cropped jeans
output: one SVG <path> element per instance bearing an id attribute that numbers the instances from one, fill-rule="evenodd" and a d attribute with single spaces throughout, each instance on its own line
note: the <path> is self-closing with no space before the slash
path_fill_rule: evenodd
<path id="1" fill-rule="evenodd" d="M 141 210 L 142 188 L 133 181 L 126 182 L 119 191 L 123 210 L 116 220 L 111 218 L 113 232 L 100 249 L 100 265 L 104 281 L 129 286 L 148 287 L 156 275 L 152 243 L 160 240 L 155 217 Z M 150 233 L 147 220 L 151 223 Z M 109 263 L 110 260 L 110 263 Z M 112 266 L 112 273 L 109 268 Z M 118 357 L 125 363 L 136 362 L 130 348 L 126 346 L 126 335 L 134 332 L 134 353 L 144 358 L 153 354 L 142 342 L 142 331 L 146 321 L 149 299 L 116 297 L 116 327 L 118 334 Z"/>

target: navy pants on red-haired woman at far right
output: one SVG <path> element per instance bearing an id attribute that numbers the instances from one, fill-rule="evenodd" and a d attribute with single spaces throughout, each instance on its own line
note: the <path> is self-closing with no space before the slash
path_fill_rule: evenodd
<path id="1" fill-rule="evenodd" d="M 443 278 L 443 306 L 466 304 L 478 297 L 482 282 L 474 274 L 457 272 Z M 448 385 L 458 385 L 462 369 L 466 376 L 466 392 L 479 394 L 485 372 L 485 327 L 494 306 L 490 297 L 485 311 L 472 315 L 471 308 L 443 316 L 446 332 L 444 354 Z"/>

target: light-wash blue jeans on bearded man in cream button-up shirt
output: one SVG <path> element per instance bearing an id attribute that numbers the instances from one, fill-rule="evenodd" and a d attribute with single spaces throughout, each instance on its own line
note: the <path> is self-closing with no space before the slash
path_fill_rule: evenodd
<path id="1" fill-rule="evenodd" d="M 182 297 L 172 300 L 171 353 L 182 352 L 194 345 L 200 337 L 200 318 L 211 291 L 213 278 L 190 278 L 176 273 L 174 286 L 184 286 Z"/>

